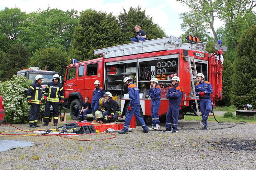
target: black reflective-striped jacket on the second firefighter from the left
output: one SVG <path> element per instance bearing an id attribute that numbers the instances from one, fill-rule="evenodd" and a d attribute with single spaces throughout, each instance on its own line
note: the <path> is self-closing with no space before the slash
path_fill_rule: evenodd
<path id="1" fill-rule="evenodd" d="M 51 81 L 47 84 L 45 88 L 45 96 L 47 96 L 47 101 L 49 102 L 59 102 L 60 100 L 64 100 L 64 90 L 62 85 L 57 82 Z"/>

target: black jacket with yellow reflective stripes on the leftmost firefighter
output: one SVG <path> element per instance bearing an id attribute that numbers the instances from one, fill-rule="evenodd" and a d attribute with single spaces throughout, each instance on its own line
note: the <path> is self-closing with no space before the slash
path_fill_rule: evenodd
<path id="1" fill-rule="evenodd" d="M 33 104 L 40 104 L 42 100 L 43 88 L 41 84 L 36 82 L 30 84 L 27 90 L 27 100 L 31 100 Z"/>

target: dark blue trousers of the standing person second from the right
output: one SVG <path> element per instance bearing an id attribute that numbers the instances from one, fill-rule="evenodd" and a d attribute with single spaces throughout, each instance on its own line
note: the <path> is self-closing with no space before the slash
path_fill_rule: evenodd
<path id="1" fill-rule="evenodd" d="M 169 105 L 166 113 L 166 129 L 178 129 L 179 105 Z"/>

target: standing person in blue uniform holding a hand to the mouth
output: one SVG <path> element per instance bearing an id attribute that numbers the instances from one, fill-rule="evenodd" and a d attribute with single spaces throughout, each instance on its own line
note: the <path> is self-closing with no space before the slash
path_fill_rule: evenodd
<path id="1" fill-rule="evenodd" d="M 160 130 L 158 110 L 161 103 L 161 87 L 158 84 L 157 78 L 152 78 L 150 83 L 149 95 L 151 99 L 152 128 L 149 128 L 149 130 Z"/>

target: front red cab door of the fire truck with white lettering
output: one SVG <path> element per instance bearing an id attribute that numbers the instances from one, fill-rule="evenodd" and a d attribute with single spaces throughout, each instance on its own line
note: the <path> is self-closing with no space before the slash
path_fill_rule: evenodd
<path id="1" fill-rule="evenodd" d="M 72 93 L 77 90 L 77 66 L 67 68 L 67 73 L 65 77 L 64 89 L 65 97 L 69 96 L 69 93 Z"/>

